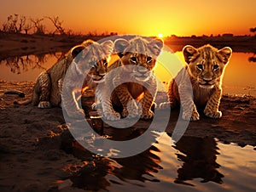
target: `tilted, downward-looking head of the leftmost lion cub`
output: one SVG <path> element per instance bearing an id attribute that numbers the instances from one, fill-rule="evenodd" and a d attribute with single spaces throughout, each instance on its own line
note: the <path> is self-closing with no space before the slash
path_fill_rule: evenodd
<path id="1" fill-rule="evenodd" d="M 101 44 L 92 40 L 84 41 L 72 50 L 80 74 L 87 74 L 94 82 L 102 82 L 107 74 L 108 59 L 113 52 L 113 42 Z"/>

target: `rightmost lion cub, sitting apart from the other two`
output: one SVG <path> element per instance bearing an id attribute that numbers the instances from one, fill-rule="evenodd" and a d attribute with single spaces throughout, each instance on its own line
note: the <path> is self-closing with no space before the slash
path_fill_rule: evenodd
<path id="1" fill-rule="evenodd" d="M 183 119 L 196 121 L 200 117 L 196 106 L 202 106 L 206 116 L 220 118 L 222 113 L 218 105 L 222 95 L 222 77 L 231 54 L 232 50 L 228 47 L 218 50 L 211 45 L 201 48 L 185 46 L 183 55 L 188 65 L 169 83 L 169 102 L 160 104 L 160 108 L 180 103 Z M 190 81 L 187 81 L 187 76 Z"/>

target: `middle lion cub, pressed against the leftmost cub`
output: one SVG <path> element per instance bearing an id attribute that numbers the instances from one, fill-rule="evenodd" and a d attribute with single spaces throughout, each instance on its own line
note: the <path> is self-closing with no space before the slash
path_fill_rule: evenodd
<path id="1" fill-rule="evenodd" d="M 120 38 L 114 42 L 119 59 L 109 66 L 105 82 L 100 83 L 98 85 L 100 87 L 96 89 L 96 98 L 102 104 L 103 116 L 106 119 L 114 121 L 119 120 L 121 116 L 133 118 L 139 114 L 143 119 L 150 119 L 154 116 L 154 112 L 150 109 L 154 103 L 157 83 L 151 72 L 154 72 L 156 58 L 162 47 L 161 40 L 145 37 L 134 37 L 130 41 Z M 140 68 L 132 71 L 132 74 L 124 67 L 118 73 L 112 73 L 118 67 L 128 65 L 137 65 Z M 119 84 L 125 76 L 128 76 L 127 79 L 131 81 Z M 109 93 L 112 89 L 113 93 Z M 139 109 L 138 102 L 142 109 Z M 122 109 L 121 116 L 113 110 L 113 105 Z"/>

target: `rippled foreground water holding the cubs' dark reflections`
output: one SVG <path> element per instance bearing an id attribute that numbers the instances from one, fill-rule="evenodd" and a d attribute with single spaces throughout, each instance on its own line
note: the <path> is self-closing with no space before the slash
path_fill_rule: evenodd
<path id="1" fill-rule="evenodd" d="M 210 137 L 183 136 L 174 144 L 164 133 L 142 154 L 99 157 L 93 172 L 84 161 L 85 167 L 71 180 L 74 187 L 90 190 L 255 191 L 255 153 L 252 146 L 222 144 Z M 78 148 L 76 156 L 84 160 L 89 155 Z"/>

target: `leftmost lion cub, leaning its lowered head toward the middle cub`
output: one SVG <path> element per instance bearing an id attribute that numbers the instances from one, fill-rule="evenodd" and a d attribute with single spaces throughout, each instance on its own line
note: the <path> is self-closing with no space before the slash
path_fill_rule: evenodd
<path id="1" fill-rule="evenodd" d="M 67 73 L 67 69 L 72 62 L 74 67 L 72 67 L 72 69 L 69 71 L 71 71 L 73 77 L 69 78 L 68 81 L 73 82 L 67 82 L 68 85 L 70 84 L 70 86 L 73 86 L 76 84 L 76 79 L 80 78 L 80 76 L 81 78 L 84 78 L 84 74 L 86 73 L 89 77 L 87 76 L 85 81 L 87 80 L 90 82 L 92 80 L 92 82 L 97 82 L 100 81 L 107 73 L 107 58 L 110 54 L 112 54 L 112 51 L 112 41 L 106 41 L 99 44 L 98 42 L 87 40 L 82 44 L 73 47 L 65 59 L 61 59 L 51 68 L 49 68 L 48 71 L 44 71 L 38 76 L 37 82 L 33 88 L 32 99 L 24 102 L 23 104 L 32 103 L 33 105 L 38 105 L 38 108 L 61 106 L 62 82 Z M 79 62 L 74 59 L 78 54 L 79 59 L 83 62 Z M 79 63 L 77 64 L 77 62 Z M 85 82 L 84 86 L 87 86 L 87 84 Z M 70 98 L 67 99 L 67 103 L 77 106 L 73 93 L 70 93 Z M 70 106 L 69 109 L 73 109 L 73 106 Z M 76 111 L 79 111 L 80 113 L 82 112 L 80 109 L 73 109 L 68 111 L 68 115 L 75 116 Z"/>

